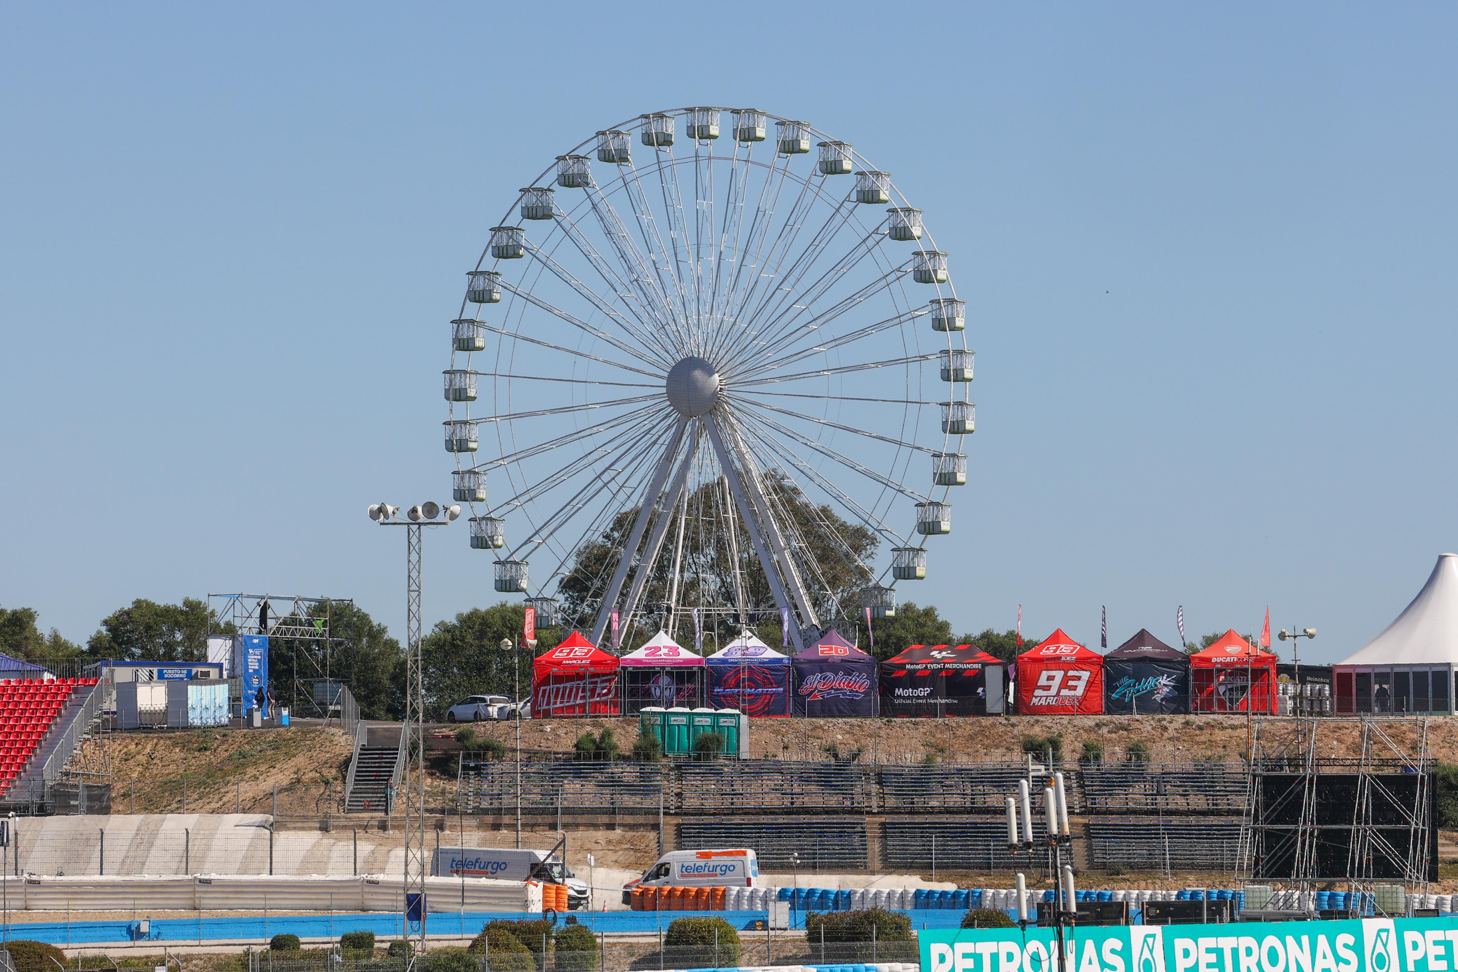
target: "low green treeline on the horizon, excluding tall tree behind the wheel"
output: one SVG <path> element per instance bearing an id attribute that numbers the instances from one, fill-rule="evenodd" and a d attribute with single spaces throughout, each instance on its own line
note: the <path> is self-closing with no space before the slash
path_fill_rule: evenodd
<path id="1" fill-rule="evenodd" d="M 311 608 L 311 616 L 324 612 L 328 612 L 330 634 L 337 638 L 328 654 L 328 675 L 348 683 L 366 718 L 399 718 L 405 698 L 405 660 L 399 640 L 357 605 L 334 602 Z M 420 646 L 427 717 L 442 718 L 446 708 L 467 695 L 519 698 L 531 689 L 534 656 L 554 647 L 566 631 L 538 630 L 532 651 L 521 644 L 522 616 L 521 603 L 500 602 L 434 624 Z M 207 603 L 195 597 L 185 597 L 181 605 L 137 599 L 104 618 L 85 646 L 66 640 L 54 628 L 42 634 L 39 618 L 31 608 L 0 608 L 0 654 L 26 662 L 204 662 L 210 630 L 229 632 L 226 624 L 219 625 L 208 614 Z M 639 631 L 634 643 L 625 647 L 636 648 L 652 634 Z M 771 646 L 781 644 L 777 618 L 776 624 L 757 625 L 755 634 Z M 687 632 L 677 631 L 675 637 L 681 644 L 691 644 L 691 625 Z M 503 647 L 503 641 L 510 641 L 510 646 Z M 882 660 L 913 644 L 968 643 L 1005 660 L 1019 651 L 1013 631 L 989 628 L 981 634 L 954 635 L 952 625 L 933 605 L 904 603 L 895 618 L 875 621 L 869 634 L 865 621 L 857 630 L 857 644 Z M 1028 644 L 1037 644 L 1037 640 L 1025 637 L 1024 646 Z M 714 647 L 706 643 L 704 650 Z M 268 670 L 276 698 L 292 698 L 296 676 L 311 679 L 324 675 L 312 660 L 318 657 L 316 650 L 318 643 L 305 640 L 270 640 Z"/>

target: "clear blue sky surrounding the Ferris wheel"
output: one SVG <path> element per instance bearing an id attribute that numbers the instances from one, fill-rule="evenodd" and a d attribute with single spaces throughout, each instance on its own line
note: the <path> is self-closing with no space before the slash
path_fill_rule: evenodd
<path id="1" fill-rule="evenodd" d="M 445 497 L 445 322 L 487 229 L 620 119 L 856 143 L 952 255 L 974 482 L 905 596 L 958 630 L 1375 635 L 1458 546 L 1438 4 L 12 4 L 0 605 L 354 597 Z M 496 600 L 464 523 L 426 616 Z M 1305 650 L 1305 646 L 1303 646 Z"/>

